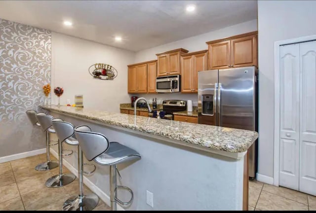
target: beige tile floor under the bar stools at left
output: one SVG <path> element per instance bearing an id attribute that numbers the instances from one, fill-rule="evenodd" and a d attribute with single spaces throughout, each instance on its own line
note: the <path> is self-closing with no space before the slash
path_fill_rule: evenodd
<path id="1" fill-rule="evenodd" d="M 52 160 L 56 160 L 51 156 Z M 0 211 L 1 210 L 61 210 L 65 200 L 78 194 L 78 178 L 59 188 L 47 188 L 44 183 L 57 175 L 58 167 L 45 172 L 34 168 L 45 162 L 46 154 L 36 155 L 0 164 Z M 64 173 L 70 173 L 64 168 Z M 83 191 L 91 192 L 86 186 Z M 94 210 L 110 210 L 99 200 Z"/>

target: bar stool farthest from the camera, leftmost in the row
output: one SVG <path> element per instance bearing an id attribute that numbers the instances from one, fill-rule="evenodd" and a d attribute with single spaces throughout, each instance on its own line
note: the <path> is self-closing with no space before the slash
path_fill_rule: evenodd
<path id="1" fill-rule="evenodd" d="M 35 110 L 27 110 L 26 111 L 26 114 L 29 118 L 29 120 L 31 121 L 31 123 L 33 125 L 36 125 L 36 126 L 40 126 L 40 123 L 38 122 L 37 118 L 36 118 L 36 114 L 38 112 L 35 111 Z M 45 114 L 45 113 L 43 113 Z M 42 127 L 43 128 L 43 127 Z M 56 145 L 57 143 L 52 143 L 50 140 L 49 140 L 49 133 L 46 131 L 46 157 L 47 157 L 47 161 L 45 163 L 40 163 L 39 165 L 37 165 L 35 167 L 35 170 L 37 171 L 47 171 L 47 170 L 51 170 L 51 169 L 54 169 L 56 167 L 58 167 L 58 163 L 56 161 L 51 161 L 50 160 L 50 153 L 49 153 L 49 146 L 50 145 Z"/>

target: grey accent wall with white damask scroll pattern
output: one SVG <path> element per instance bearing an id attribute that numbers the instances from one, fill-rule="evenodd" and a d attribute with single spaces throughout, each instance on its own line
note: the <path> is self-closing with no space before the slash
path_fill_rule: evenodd
<path id="1" fill-rule="evenodd" d="M 0 157 L 45 148 L 25 111 L 39 110 L 51 81 L 51 32 L 0 19 Z"/>

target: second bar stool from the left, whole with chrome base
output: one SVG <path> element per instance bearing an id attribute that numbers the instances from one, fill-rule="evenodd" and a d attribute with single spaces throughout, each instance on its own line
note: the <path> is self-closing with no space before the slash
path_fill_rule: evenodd
<path id="1" fill-rule="evenodd" d="M 51 115 L 46 115 L 45 113 L 37 113 L 36 118 L 38 119 L 38 122 L 40 123 L 40 126 L 43 128 L 44 131 L 46 131 L 47 133 L 56 133 L 55 129 L 52 127 L 52 119 L 54 118 Z M 60 119 L 61 120 L 61 119 Z M 72 150 L 68 150 L 71 151 L 70 154 L 73 153 Z M 70 155 L 67 154 L 67 155 Z M 58 160 L 59 160 L 59 174 L 55 175 L 51 178 L 48 178 L 45 182 L 45 185 L 47 187 L 61 187 L 61 186 L 65 186 L 69 183 L 71 183 L 72 181 L 74 181 L 74 179 L 76 178 L 76 176 L 74 174 L 63 174 L 63 143 L 58 140 Z"/>

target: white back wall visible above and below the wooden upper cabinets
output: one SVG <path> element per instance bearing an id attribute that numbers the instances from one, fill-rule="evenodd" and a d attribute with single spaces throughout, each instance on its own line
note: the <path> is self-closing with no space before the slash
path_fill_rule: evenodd
<path id="1" fill-rule="evenodd" d="M 209 33 L 201 34 L 198 36 L 192 36 L 182 40 L 174 41 L 171 43 L 163 44 L 157 47 L 145 49 L 136 52 L 135 63 L 156 60 L 157 53 L 165 52 L 172 49 L 184 48 L 189 50 L 189 52 L 195 52 L 199 50 L 207 49 L 207 44 L 205 42 L 216 40 L 220 38 L 235 36 L 238 34 L 249 33 L 252 31 L 257 31 L 257 19 L 247 21 L 241 24 L 233 25 L 230 27 L 222 28 L 216 31 L 211 31 Z M 131 96 L 131 95 L 130 95 Z M 139 96 L 145 97 L 150 100 L 152 98 L 157 98 L 160 100 L 166 99 L 179 99 L 179 100 L 193 100 L 193 105 L 197 106 L 197 94 L 140 94 Z M 158 102 L 160 104 L 160 102 Z"/>

